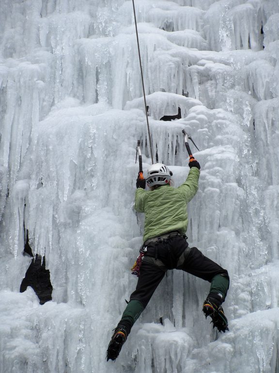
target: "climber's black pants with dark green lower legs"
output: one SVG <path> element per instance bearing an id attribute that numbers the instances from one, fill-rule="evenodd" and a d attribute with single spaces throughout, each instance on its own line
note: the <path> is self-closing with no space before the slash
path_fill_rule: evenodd
<path id="1" fill-rule="evenodd" d="M 148 241 L 147 241 L 148 242 Z M 144 247 L 144 257 L 136 290 L 131 294 L 119 324 L 130 329 L 150 301 L 167 270 L 178 269 L 211 283 L 210 293 L 221 294 L 223 301 L 229 288 L 229 275 L 196 247 L 189 248 L 185 237 L 177 235 L 150 242 Z"/>

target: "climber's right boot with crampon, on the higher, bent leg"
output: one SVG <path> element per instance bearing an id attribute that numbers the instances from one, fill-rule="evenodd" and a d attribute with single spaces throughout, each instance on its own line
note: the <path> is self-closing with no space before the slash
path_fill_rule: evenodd
<path id="1" fill-rule="evenodd" d="M 207 318 L 207 316 L 211 317 L 213 328 L 217 327 L 219 333 L 225 333 L 226 330 L 229 330 L 228 320 L 224 314 L 224 310 L 221 305 L 217 304 L 214 298 L 208 297 L 203 302 L 202 311 L 205 318 Z"/>

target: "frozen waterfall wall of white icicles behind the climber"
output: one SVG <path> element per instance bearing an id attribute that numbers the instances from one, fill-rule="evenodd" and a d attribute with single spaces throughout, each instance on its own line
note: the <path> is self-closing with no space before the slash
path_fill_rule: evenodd
<path id="1" fill-rule="evenodd" d="M 201 149 L 187 236 L 230 273 L 230 332 L 203 318 L 209 284 L 169 271 L 105 361 L 136 286 L 138 139 L 151 164 L 132 2 L 2 1 L 0 372 L 276 373 L 278 2 L 135 2 L 153 152 L 179 185 L 182 129 Z M 181 119 L 159 120 L 178 108 Z M 45 305 L 19 293 L 24 228 L 46 254 Z"/>

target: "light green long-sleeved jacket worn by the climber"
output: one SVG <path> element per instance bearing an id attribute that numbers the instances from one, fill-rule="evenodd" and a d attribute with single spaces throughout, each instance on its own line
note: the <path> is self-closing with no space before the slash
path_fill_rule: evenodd
<path id="1" fill-rule="evenodd" d="M 198 191 L 199 177 L 199 169 L 192 167 L 186 181 L 177 188 L 162 185 L 152 191 L 137 189 L 134 207 L 145 214 L 143 241 L 172 231 L 186 233 L 187 203 Z"/>

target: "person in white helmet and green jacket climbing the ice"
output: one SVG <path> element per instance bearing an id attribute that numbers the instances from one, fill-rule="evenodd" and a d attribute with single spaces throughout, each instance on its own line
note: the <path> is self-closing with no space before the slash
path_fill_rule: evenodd
<path id="1" fill-rule="evenodd" d="M 229 288 L 228 272 L 196 247 L 190 248 L 186 241 L 187 203 L 197 193 L 201 168 L 194 157 L 190 157 L 189 167 L 186 181 L 177 188 L 171 186 L 172 172 L 161 163 L 149 168 L 146 180 L 137 179 L 134 207 L 145 214 L 144 243 L 132 269 L 138 275 L 138 283 L 109 342 L 107 360 L 117 358 L 167 270 L 186 271 L 209 281 L 211 286 L 202 311 L 205 317 L 211 317 L 219 332 L 229 330 L 221 306 Z M 146 183 L 149 191 L 144 190 Z"/>

